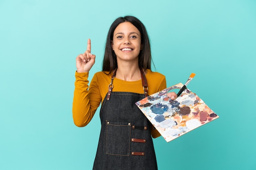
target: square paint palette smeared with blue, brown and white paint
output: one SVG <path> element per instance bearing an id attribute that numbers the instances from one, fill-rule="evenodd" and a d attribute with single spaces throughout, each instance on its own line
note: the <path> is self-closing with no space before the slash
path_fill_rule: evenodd
<path id="1" fill-rule="evenodd" d="M 182 87 L 179 83 L 135 103 L 167 142 L 219 118 L 189 89 L 175 100 L 167 96 L 171 89 Z"/>

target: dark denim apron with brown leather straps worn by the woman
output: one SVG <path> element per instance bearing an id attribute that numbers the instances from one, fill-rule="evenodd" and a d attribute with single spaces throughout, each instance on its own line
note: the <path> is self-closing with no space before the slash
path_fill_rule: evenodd
<path id="1" fill-rule="evenodd" d="M 143 71 L 141 79 L 142 83 L 146 79 Z M 135 105 L 145 94 L 110 90 L 106 95 L 100 110 L 101 133 L 94 170 L 157 170 L 151 123 Z"/>

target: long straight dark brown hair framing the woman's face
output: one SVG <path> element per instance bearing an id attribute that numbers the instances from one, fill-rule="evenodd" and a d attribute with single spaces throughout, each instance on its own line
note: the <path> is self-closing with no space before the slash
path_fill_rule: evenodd
<path id="1" fill-rule="evenodd" d="M 108 31 L 105 54 L 103 59 L 103 71 L 112 72 L 117 68 L 117 56 L 112 49 L 112 41 L 114 36 L 114 31 L 117 26 L 123 22 L 130 22 L 134 25 L 141 34 L 141 51 L 139 52 L 139 68 L 143 69 L 151 69 L 151 50 L 150 50 L 150 42 L 148 38 L 148 33 L 146 28 L 142 22 L 133 16 L 125 16 L 117 18 Z"/>

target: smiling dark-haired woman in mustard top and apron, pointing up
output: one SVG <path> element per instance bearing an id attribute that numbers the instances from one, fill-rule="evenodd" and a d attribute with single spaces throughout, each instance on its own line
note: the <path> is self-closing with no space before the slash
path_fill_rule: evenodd
<path id="1" fill-rule="evenodd" d="M 87 50 L 76 57 L 73 119 L 86 126 L 101 103 L 101 133 L 93 169 L 157 169 L 152 137 L 158 137 L 135 102 L 166 88 L 165 76 L 152 72 L 145 26 L 133 16 L 117 18 L 108 32 L 102 72 L 88 74 L 95 62 Z M 172 99 L 177 95 L 169 94 Z"/>

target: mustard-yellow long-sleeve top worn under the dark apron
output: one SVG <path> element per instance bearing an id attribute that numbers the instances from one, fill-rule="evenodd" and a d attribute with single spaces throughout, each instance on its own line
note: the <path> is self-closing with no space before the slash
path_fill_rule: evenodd
<path id="1" fill-rule="evenodd" d="M 79 127 L 86 126 L 94 116 L 100 103 L 103 102 L 108 93 L 108 85 L 111 81 L 111 74 L 97 72 L 94 74 L 90 87 L 88 89 L 89 73 L 76 72 L 75 90 L 73 98 L 73 120 L 74 124 Z M 147 70 L 146 79 L 148 81 L 148 94 L 154 94 L 166 88 L 165 76 Z M 141 80 L 139 81 L 124 81 L 118 78 L 113 80 L 112 92 L 133 92 L 144 94 Z M 153 137 L 158 137 L 160 134 L 156 130 L 151 130 Z"/>

